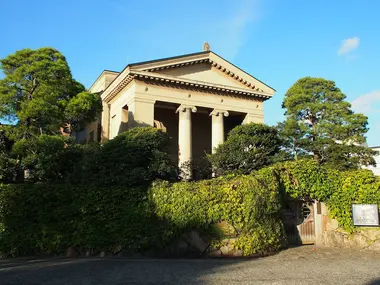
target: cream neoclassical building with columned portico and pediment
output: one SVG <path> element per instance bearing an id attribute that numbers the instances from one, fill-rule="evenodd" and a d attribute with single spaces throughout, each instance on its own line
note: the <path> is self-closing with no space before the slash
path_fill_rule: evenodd
<path id="1" fill-rule="evenodd" d="M 101 94 L 103 111 L 87 128 L 87 140 L 154 126 L 171 137 L 179 166 L 210 153 L 235 126 L 264 122 L 263 102 L 275 93 L 207 44 L 203 52 L 104 70 L 89 91 Z"/>

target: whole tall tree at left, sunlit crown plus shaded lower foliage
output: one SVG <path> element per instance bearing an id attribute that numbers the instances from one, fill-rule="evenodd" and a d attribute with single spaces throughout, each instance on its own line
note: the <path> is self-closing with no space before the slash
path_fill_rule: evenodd
<path id="1" fill-rule="evenodd" d="M 19 50 L 1 59 L 0 69 L 0 119 L 13 124 L 3 130 L 15 142 L 15 152 L 0 154 L 0 166 L 6 169 L 0 170 L 0 181 L 20 182 L 23 170 L 30 170 L 35 181 L 63 179 L 76 161 L 77 147 L 55 135 L 69 136 L 94 121 L 100 97 L 85 92 L 72 78 L 66 58 L 53 48 Z"/>

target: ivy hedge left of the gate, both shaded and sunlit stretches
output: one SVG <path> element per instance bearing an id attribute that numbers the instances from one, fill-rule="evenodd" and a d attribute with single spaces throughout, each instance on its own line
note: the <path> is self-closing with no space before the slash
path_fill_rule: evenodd
<path id="1" fill-rule="evenodd" d="M 161 248 L 191 229 L 226 221 L 245 255 L 283 244 L 278 181 L 270 169 L 250 176 L 147 187 L 69 184 L 0 186 L 0 252 L 20 256 Z"/>

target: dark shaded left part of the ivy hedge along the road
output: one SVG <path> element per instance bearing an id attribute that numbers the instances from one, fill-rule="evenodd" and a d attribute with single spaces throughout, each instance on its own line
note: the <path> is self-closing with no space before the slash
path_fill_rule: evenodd
<path id="1" fill-rule="evenodd" d="M 165 238 L 146 188 L 0 186 L 0 252 L 6 255 L 61 253 L 68 246 L 139 250 L 159 247 Z"/>

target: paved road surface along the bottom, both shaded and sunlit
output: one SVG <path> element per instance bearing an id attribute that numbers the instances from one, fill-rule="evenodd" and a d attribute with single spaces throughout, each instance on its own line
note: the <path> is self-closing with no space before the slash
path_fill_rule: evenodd
<path id="1" fill-rule="evenodd" d="M 10 259 L 0 284 L 380 284 L 380 253 L 304 246 L 256 259 Z"/>

